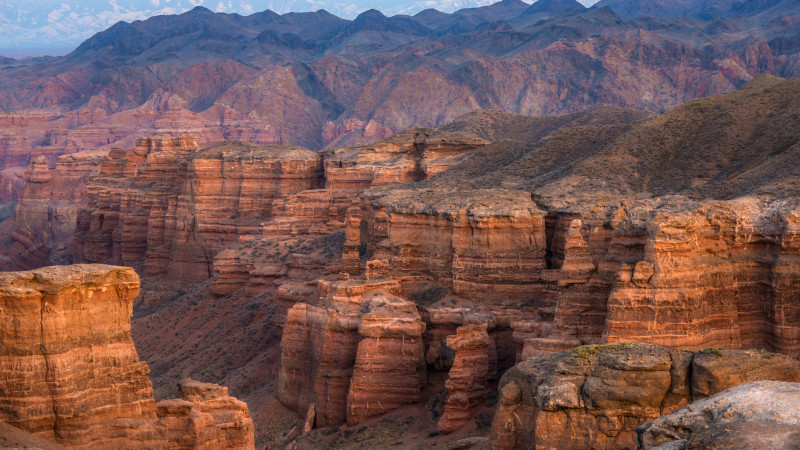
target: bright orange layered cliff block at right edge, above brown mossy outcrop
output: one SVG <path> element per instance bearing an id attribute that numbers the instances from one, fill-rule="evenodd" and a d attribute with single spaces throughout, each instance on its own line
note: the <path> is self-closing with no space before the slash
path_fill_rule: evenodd
<path id="1" fill-rule="evenodd" d="M 603 338 L 798 354 L 794 208 L 745 198 L 653 213 L 643 259 L 609 295 Z"/>

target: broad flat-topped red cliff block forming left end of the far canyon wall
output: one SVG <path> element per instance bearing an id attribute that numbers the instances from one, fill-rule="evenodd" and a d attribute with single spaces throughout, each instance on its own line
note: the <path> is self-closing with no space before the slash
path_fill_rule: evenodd
<path id="1" fill-rule="evenodd" d="M 76 258 L 140 268 L 177 282 L 211 277 L 214 255 L 260 231 L 276 198 L 320 183 L 317 154 L 193 137 L 143 139 L 114 150 L 78 217 Z"/>

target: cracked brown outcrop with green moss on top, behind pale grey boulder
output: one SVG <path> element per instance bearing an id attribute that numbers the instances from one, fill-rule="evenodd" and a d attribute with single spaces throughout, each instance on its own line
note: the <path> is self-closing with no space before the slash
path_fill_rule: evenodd
<path id="1" fill-rule="evenodd" d="M 500 380 L 492 448 L 630 448 L 636 427 L 648 420 L 760 380 L 796 382 L 800 362 L 765 352 L 695 354 L 636 343 L 527 359 Z"/>

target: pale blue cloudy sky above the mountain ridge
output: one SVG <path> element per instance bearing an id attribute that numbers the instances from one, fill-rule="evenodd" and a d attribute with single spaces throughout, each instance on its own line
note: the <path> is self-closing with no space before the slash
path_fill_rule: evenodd
<path id="1" fill-rule="evenodd" d="M 160 14 L 180 14 L 200 5 L 242 15 L 265 9 L 280 14 L 325 9 L 352 19 L 370 8 L 391 16 L 427 8 L 453 12 L 495 1 L 499 0 L 0 0 L 0 55 L 19 58 L 66 54 L 120 20 L 132 22 Z M 597 2 L 579 1 L 586 6 Z"/>

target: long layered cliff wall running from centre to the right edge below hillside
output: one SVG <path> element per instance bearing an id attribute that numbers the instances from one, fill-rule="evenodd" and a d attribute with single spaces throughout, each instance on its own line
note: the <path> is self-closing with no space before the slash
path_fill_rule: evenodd
<path id="1" fill-rule="evenodd" d="M 516 297 L 539 317 L 551 311 L 518 322 L 520 339 L 523 326 L 544 330 L 523 342 L 525 356 L 628 340 L 800 353 L 794 200 L 672 197 L 547 213 L 519 191 L 363 198 L 358 239 L 392 276 L 425 274 L 487 306 L 502 298 L 497 310 Z"/>

